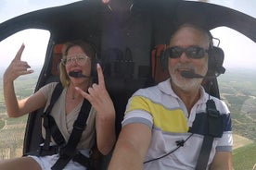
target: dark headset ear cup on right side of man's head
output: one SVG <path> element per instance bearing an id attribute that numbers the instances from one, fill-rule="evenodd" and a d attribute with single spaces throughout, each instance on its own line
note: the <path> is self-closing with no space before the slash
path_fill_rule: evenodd
<path id="1" fill-rule="evenodd" d="M 208 59 L 208 75 L 220 75 L 224 74 L 225 68 L 223 67 L 224 63 L 224 51 L 220 47 L 213 46 L 209 50 L 209 59 Z"/>

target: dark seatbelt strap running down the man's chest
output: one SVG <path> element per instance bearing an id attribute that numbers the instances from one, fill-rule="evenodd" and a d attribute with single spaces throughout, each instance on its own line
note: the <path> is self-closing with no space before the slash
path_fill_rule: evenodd
<path id="1" fill-rule="evenodd" d="M 213 100 L 206 103 L 207 112 L 207 134 L 205 134 L 201 151 L 198 156 L 198 163 L 195 170 L 205 170 L 209 161 L 212 142 L 215 137 L 219 137 L 222 133 L 222 119 Z"/>

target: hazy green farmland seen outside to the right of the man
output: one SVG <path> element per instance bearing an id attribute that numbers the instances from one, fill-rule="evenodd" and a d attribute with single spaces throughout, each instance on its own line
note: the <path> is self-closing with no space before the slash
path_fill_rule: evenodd
<path id="1" fill-rule="evenodd" d="M 233 133 L 236 134 L 236 149 L 232 154 L 234 170 L 252 170 L 253 167 L 253 170 L 256 170 L 255 78 L 255 70 L 236 70 L 227 72 L 219 79 L 221 95 L 228 103 Z"/>

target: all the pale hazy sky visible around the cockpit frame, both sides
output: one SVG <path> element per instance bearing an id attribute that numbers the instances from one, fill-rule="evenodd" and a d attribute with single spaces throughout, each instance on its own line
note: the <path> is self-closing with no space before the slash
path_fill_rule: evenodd
<path id="1" fill-rule="evenodd" d="M 76 1 L 78 0 L 0 0 L 0 23 L 33 10 L 62 6 Z M 256 18 L 256 1 L 254 0 L 209 0 L 209 2 L 243 11 Z M 226 28 L 211 30 L 211 33 L 221 40 L 220 47 L 224 49 L 225 54 L 224 67 L 246 66 L 256 69 L 255 42 L 235 30 Z M 43 64 L 48 38 L 49 33 L 45 30 L 25 30 L 0 42 L 2 64 L 0 67 L 7 67 L 21 43 L 26 45 L 22 60 L 28 60 L 31 65 Z"/>

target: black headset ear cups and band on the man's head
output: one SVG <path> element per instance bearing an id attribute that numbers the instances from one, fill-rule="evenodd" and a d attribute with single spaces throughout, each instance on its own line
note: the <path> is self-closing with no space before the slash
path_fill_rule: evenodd
<path id="1" fill-rule="evenodd" d="M 209 30 L 207 30 L 207 32 L 211 42 L 208 49 L 208 72 L 206 76 L 219 76 L 225 72 L 225 68 L 223 67 L 224 51 L 222 48 L 213 45 L 213 39 L 218 39 L 213 38 Z M 160 52 L 160 64 L 162 69 L 168 69 L 168 58 L 169 54 L 166 52 L 165 47 L 165 49 Z"/>

